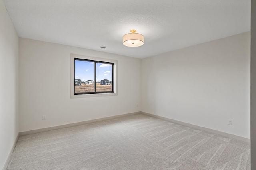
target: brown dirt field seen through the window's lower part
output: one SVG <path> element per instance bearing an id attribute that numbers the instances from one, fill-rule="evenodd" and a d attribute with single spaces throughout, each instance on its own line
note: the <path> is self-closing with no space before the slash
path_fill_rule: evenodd
<path id="1" fill-rule="evenodd" d="M 96 91 L 112 91 L 111 85 L 96 84 Z M 94 84 L 86 85 L 82 83 L 80 86 L 75 86 L 75 93 L 94 92 Z"/>

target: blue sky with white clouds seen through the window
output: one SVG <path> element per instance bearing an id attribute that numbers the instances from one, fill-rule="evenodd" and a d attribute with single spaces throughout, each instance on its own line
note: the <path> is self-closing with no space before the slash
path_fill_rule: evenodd
<path id="1" fill-rule="evenodd" d="M 94 81 L 94 63 L 75 60 L 75 67 L 75 79 L 81 79 L 82 81 Z M 112 65 L 96 63 L 96 81 L 101 81 L 104 79 L 112 81 L 111 75 Z"/>

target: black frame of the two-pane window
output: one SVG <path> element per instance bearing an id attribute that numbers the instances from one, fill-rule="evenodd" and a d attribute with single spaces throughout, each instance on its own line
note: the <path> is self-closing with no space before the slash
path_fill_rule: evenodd
<path id="1" fill-rule="evenodd" d="M 93 62 L 94 63 L 94 92 L 81 92 L 81 93 L 75 93 L 75 75 L 76 75 L 76 60 L 78 61 L 88 61 L 88 62 Z M 111 81 L 111 91 L 96 91 L 96 63 L 102 63 L 102 64 L 110 64 L 112 65 L 112 81 Z M 81 59 L 81 58 L 75 58 L 74 57 L 74 95 L 87 95 L 87 94 L 102 94 L 102 93 L 114 93 L 114 63 L 111 62 L 106 62 L 106 61 L 96 61 L 96 60 L 91 60 L 91 59 Z"/>

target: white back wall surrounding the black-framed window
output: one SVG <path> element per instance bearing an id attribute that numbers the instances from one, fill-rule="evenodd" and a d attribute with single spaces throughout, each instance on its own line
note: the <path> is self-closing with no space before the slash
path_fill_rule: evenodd
<path id="1" fill-rule="evenodd" d="M 118 95 L 71 99 L 71 53 L 118 60 Z M 137 58 L 20 38 L 20 132 L 140 111 L 140 64 Z"/>

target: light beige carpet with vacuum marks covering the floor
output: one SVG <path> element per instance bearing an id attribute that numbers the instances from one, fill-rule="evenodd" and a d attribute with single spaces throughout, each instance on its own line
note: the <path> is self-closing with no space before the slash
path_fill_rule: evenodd
<path id="1" fill-rule="evenodd" d="M 8 170 L 250 170 L 250 144 L 143 114 L 20 136 Z"/>

